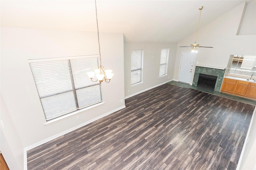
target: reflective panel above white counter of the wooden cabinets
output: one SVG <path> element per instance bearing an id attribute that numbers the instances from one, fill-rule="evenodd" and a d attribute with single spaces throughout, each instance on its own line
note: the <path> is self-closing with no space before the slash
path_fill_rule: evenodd
<path id="1" fill-rule="evenodd" d="M 228 76 L 255 77 L 256 56 L 230 55 L 226 73 Z"/>

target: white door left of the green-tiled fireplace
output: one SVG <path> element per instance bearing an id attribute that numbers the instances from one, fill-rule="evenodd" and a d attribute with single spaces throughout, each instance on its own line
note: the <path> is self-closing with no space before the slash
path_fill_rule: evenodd
<path id="1" fill-rule="evenodd" d="M 195 53 L 182 53 L 178 78 L 179 82 L 190 84 L 195 57 Z"/>

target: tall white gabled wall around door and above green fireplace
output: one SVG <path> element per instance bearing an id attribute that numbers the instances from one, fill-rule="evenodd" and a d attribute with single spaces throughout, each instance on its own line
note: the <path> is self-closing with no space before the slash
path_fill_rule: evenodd
<path id="1" fill-rule="evenodd" d="M 198 48 L 195 63 L 226 68 L 231 54 L 256 55 L 256 35 L 236 35 L 245 7 L 246 2 L 199 29 L 197 43 L 214 48 Z M 204 17 L 203 13 L 201 17 Z M 196 33 L 178 42 L 174 70 L 175 80 L 178 80 L 181 53 L 182 51 L 189 51 L 189 49 L 179 48 L 179 46 L 194 43 L 195 37 Z"/>

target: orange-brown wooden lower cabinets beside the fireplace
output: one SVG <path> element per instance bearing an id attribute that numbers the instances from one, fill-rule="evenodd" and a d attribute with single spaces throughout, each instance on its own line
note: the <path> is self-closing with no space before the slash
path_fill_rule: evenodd
<path id="1" fill-rule="evenodd" d="M 224 78 L 221 92 L 256 99 L 256 83 Z"/>

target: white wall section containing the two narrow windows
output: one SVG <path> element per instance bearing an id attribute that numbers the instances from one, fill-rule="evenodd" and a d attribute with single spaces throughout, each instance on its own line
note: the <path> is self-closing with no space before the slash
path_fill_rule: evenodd
<path id="1" fill-rule="evenodd" d="M 162 48 L 170 48 L 167 76 L 159 77 Z M 124 43 L 124 89 L 125 96 L 132 96 L 172 80 L 177 43 Z M 144 50 L 143 83 L 131 86 L 131 51 Z M 128 92 L 130 90 L 130 92 Z"/>

